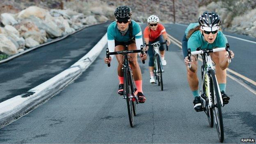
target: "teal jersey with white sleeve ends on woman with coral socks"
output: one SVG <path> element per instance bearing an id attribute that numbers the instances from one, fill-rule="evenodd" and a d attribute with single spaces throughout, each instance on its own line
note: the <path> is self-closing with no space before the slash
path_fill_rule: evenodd
<path id="1" fill-rule="evenodd" d="M 135 37 L 135 39 L 142 38 L 142 31 L 138 23 L 131 20 L 133 24 L 133 35 L 130 38 L 130 29 L 126 32 L 125 35 L 122 35 L 121 32 L 117 29 L 117 22 L 113 21 L 108 27 L 107 27 L 107 40 L 117 40 L 121 42 L 127 42 L 130 41 Z"/>

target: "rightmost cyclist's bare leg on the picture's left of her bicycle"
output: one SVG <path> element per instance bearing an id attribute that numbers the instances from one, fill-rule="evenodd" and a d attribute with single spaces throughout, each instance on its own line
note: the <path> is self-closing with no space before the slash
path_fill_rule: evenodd
<path id="1" fill-rule="evenodd" d="M 193 61 L 192 64 L 194 64 L 197 67 L 197 61 Z M 191 71 L 187 67 L 187 81 L 188 81 L 188 85 L 190 86 L 191 91 L 198 90 L 199 82 L 198 82 L 198 78 L 197 78 L 197 70 Z"/>

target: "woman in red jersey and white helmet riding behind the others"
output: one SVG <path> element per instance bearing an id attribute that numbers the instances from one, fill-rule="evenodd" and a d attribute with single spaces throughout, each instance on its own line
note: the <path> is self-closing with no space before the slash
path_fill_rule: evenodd
<path id="1" fill-rule="evenodd" d="M 144 30 L 144 40 L 146 44 L 155 43 L 156 41 L 164 42 L 165 39 L 168 41 L 168 45 L 170 44 L 170 40 L 167 36 L 167 32 L 165 31 L 165 27 L 159 23 L 158 16 L 151 15 L 148 18 L 148 26 Z M 148 50 L 149 54 L 149 73 L 150 73 L 150 83 L 154 84 L 154 50 L 153 46 L 147 46 L 146 50 Z M 162 65 L 166 65 L 165 60 L 165 47 L 163 45 L 160 46 L 160 55 L 161 55 L 161 62 Z"/>

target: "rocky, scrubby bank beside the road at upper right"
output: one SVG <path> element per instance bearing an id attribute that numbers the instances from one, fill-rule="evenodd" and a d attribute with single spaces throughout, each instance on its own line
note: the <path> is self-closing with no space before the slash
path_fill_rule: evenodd
<path id="1" fill-rule="evenodd" d="M 215 11 L 226 31 L 256 37 L 256 0 L 205 0 L 198 9 Z"/>

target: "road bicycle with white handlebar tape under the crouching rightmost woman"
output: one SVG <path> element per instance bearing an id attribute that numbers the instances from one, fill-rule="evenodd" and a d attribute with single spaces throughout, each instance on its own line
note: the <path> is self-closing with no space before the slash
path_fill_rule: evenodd
<path id="1" fill-rule="evenodd" d="M 224 106 L 222 101 L 222 95 L 219 90 L 219 85 L 217 82 L 217 78 L 215 75 L 215 71 L 213 69 L 212 59 L 210 57 L 210 53 L 224 51 L 226 50 L 229 53 L 229 57 L 231 57 L 231 53 L 229 50 L 229 43 L 226 43 L 226 47 L 224 48 L 214 48 L 214 49 L 203 49 L 191 52 L 190 48 L 188 51 L 188 59 L 191 61 L 191 55 L 200 54 L 203 59 L 203 65 L 201 66 L 201 78 L 202 83 L 200 87 L 199 96 L 202 101 L 202 111 L 204 111 L 207 115 L 208 122 L 210 127 L 213 127 L 213 123 L 215 123 L 219 141 L 223 142 L 224 140 L 224 129 L 223 129 L 223 119 L 222 119 L 222 107 Z M 228 60 L 231 62 L 231 59 Z M 188 66 L 191 68 L 191 65 Z"/>

